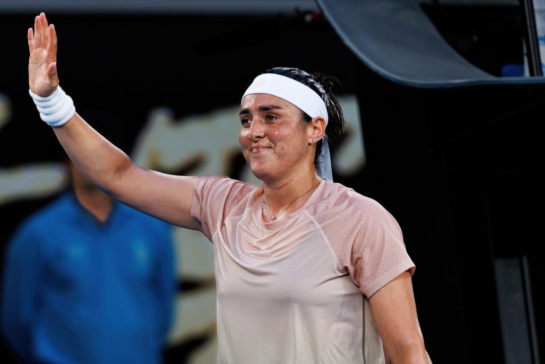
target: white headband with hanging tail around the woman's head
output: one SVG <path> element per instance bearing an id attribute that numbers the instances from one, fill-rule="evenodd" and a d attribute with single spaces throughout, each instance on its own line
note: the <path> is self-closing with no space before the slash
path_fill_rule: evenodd
<path id="1" fill-rule="evenodd" d="M 246 95 L 252 93 L 266 93 L 280 97 L 297 106 L 310 117 L 322 116 L 325 119 L 325 126 L 328 125 L 328 109 L 325 107 L 324 100 L 312 88 L 299 81 L 274 73 L 264 73 L 253 80 L 240 99 L 240 104 Z M 322 138 L 322 153 L 320 155 L 323 160 L 318 164 L 318 174 L 326 180 L 333 181 L 331 156 L 325 136 Z"/>

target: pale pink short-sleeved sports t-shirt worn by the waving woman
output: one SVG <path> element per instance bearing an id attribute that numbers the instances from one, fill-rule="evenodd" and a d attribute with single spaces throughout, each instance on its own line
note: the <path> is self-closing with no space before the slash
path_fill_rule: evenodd
<path id="1" fill-rule="evenodd" d="M 263 187 L 227 177 L 195 185 L 191 215 L 214 244 L 217 362 L 383 361 L 365 297 L 414 272 L 396 220 L 328 180 L 272 222 L 262 201 Z"/>

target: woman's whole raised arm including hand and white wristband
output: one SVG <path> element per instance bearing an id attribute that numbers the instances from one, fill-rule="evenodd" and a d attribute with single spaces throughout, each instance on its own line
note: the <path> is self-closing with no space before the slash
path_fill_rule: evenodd
<path id="1" fill-rule="evenodd" d="M 105 193 L 168 223 L 195 229 L 191 200 L 196 177 L 173 176 L 140 168 L 97 133 L 59 87 L 57 34 L 44 13 L 28 29 L 28 83 L 40 116 L 77 168 Z M 68 120 L 68 121 L 66 121 Z"/>

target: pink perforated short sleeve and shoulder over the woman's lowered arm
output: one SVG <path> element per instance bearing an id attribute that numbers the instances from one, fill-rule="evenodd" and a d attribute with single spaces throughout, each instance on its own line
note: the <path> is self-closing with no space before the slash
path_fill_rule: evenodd
<path id="1" fill-rule="evenodd" d="M 410 259 L 396 219 L 377 201 L 334 183 L 323 192 L 314 216 L 337 259 L 361 293 L 370 297 L 404 271 Z"/>

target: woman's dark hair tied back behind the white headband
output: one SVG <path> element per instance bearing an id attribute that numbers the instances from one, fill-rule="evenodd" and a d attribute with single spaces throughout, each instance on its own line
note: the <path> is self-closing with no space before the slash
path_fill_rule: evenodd
<path id="1" fill-rule="evenodd" d="M 270 68 L 263 73 L 274 73 L 286 76 L 313 89 L 313 91 L 324 100 L 325 107 L 328 109 L 328 126 L 325 128 L 325 136 L 328 139 L 328 144 L 332 148 L 338 148 L 344 128 L 344 116 L 341 105 L 333 94 L 333 89 L 336 88 L 341 91 L 341 82 L 336 79 L 336 77 L 330 75 L 319 72 L 308 73 L 294 67 L 275 67 Z M 308 123 L 312 120 L 306 112 L 301 110 L 301 114 L 302 119 L 305 122 Z M 316 154 L 314 154 L 315 166 L 320 162 L 319 158 L 321 153 L 322 140 L 319 140 L 316 144 Z"/>

